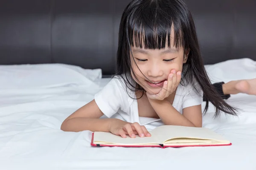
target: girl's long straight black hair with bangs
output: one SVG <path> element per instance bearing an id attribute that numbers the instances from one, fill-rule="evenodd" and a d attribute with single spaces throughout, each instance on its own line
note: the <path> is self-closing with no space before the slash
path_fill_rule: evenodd
<path id="1" fill-rule="evenodd" d="M 166 40 L 171 45 L 171 28 L 174 28 L 174 45 L 189 49 L 183 64 L 181 84 L 189 83 L 194 90 L 203 91 L 206 100 L 204 113 L 209 102 L 215 106 L 215 117 L 220 111 L 237 115 L 236 108 L 228 105 L 212 86 L 201 56 L 192 14 L 182 0 L 132 0 L 122 14 L 119 26 L 116 74 L 125 79 L 127 87 L 143 91 L 131 77 L 131 46 L 146 49 L 165 48 Z M 166 39 L 168 37 L 168 39 Z M 131 89 L 131 88 L 130 88 Z M 131 89 L 132 90 L 132 89 Z M 145 93 L 145 91 L 143 91 Z"/>

